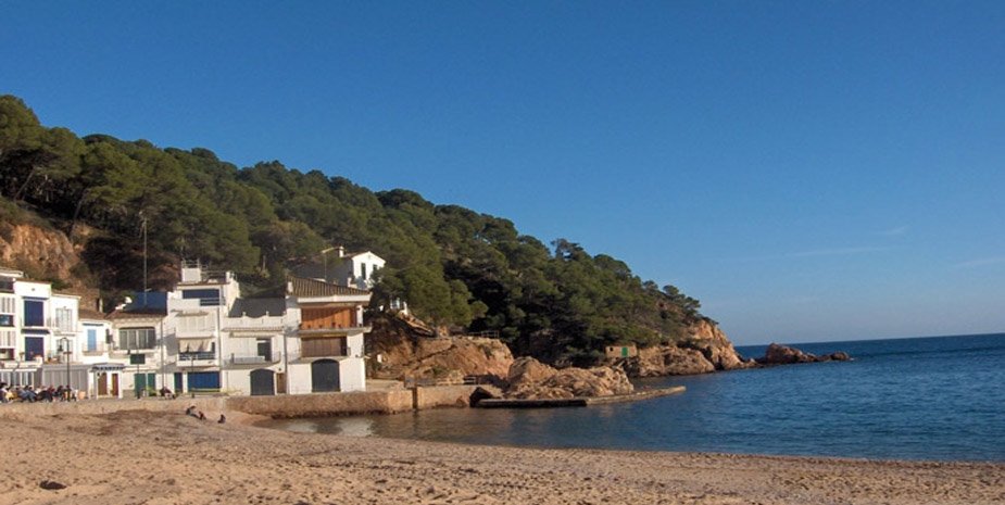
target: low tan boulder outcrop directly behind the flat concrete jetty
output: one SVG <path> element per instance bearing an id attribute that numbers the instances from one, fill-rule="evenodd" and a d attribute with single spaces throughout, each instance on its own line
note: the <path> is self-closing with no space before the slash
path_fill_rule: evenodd
<path id="1" fill-rule="evenodd" d="M 635 387 L 624 370 L 610 366 L 555 369 L 532 357 L 514 361 L 507 375 L 506 397 L 570 399 L 628 394 Z"/>

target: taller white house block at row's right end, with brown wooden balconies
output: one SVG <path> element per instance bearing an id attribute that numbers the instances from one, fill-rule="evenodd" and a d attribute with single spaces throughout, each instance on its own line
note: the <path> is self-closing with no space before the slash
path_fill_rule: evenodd
<path id="1" fill-rule="evenodd" d="M 369 292 L 291 278 L 287 295 L 240 298 L 231 273 L 189 264 L 167 295 L 168 387 L 177 392 L 363 391 Z"/>

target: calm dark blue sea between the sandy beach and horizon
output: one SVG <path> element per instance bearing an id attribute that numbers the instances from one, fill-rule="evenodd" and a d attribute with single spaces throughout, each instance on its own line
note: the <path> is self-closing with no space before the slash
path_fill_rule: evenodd
<path id="1" fill-rule="evenodd" d="M 544 447 L 1005 460 L 1005 333 L 796 344 L 846 363 L 639 381 L 684 394 L 531 411 L 299 419 L 323 433 Z M 744 356 L 764 346 L 738 348 Z"/>

